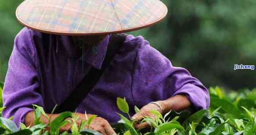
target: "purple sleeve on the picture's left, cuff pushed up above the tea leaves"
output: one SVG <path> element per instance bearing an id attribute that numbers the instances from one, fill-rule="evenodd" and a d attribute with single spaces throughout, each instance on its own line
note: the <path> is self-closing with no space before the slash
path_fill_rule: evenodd
<path id="1" fill-rule="evenodd" d="M 24 116 L 33 110 L 32 104 L 43 107 L 38 92 L 39 75 L 35 65 L 35 48 L 28 28 L 23 28 L 14 39 L 3 89 L 3 117 L 14 116 L 19 127 Z"/>

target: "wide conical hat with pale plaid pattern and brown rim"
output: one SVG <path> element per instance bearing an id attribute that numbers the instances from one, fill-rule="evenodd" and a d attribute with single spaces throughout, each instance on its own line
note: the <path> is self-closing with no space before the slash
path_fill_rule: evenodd
<path id="1" fill-rule="evenodd" d="M 134 31 L 162 21 L 160 0 L 25 0 L 18 21 L 34 30 L 60 35 L 101 35 Z"/>

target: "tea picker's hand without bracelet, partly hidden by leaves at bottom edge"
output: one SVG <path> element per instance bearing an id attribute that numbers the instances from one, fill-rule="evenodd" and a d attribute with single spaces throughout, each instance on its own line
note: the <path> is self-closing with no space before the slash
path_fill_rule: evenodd
<path id="1" fill-rule="evenodd" d="M 73 113 L 73 115 L 76 117 L 78 116 L 79 118 L 76 120 L 76 124 L 80 125 L 82 121 L 86 121 L 87 118 L 85 116 L 85 114 L 80 114 L 80 113 Z M 87 117 L 90 117 L 91 114 L 87 114 Z M 66 120 L 71 120 L 70 118 L 67 118 Z M 60 128 L 60 131 L 69 131 L 70 130 L 71 125 L 65 124 L 65 126 Z M 87 128 L 87 125 L 86 127 Z M 90 123 L 90 127 L 89 129 L 94 130 L 94 131 L 98 131 L 103 135 L 116 135 L 115 131 L 113 130 L 113 128 L 110 126 L 110 124 L 108 123 L 107 120 L 105 120 L 102 117 L 95 117 L 94 120 Z"/>

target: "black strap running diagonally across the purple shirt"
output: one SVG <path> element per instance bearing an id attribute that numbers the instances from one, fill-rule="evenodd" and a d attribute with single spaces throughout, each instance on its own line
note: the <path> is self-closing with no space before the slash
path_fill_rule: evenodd
<path id="1" fill-rule="evenodd" d="M 126 39 L 127 34 L 113 34 L 111 35 L 108 43 L 108 49 L 101 66 L 101 70 L 98 70 L 92 67 L 89 73 L 83 78 L 83 80 L 77 85 L 76 89 L 71 92 L 71 94 L 61 103 L 60 106 L 57 106 L 57 109 L 54 113 L 61 113 L 65 111 L 73 112 L 76 107 L 83 101 L 83 99 L 88 95 L 91 89 L 94 88 L 94 85 L 97 83 L 98 79 L 101 77 L 105 69 L 110 64 L 117 50 L 123 44 Z"/>

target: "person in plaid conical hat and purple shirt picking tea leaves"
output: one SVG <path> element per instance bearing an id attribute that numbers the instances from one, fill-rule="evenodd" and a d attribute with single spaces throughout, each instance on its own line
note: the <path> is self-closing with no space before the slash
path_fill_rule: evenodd
<path id="1" fill-rule="evenodd" d="M 17 126 L 20 122 L 33 125 L 32 104 L 36 104 L 54 120 L 58 117 L 50 114 L 54 106 L 69 96 L 91 68 L 102 68 L 112 35 L 151 26 L 166 14 L 167 7 L 159 0 L 25 0 L 16 11 L 26 27 L 14 39 L 3 91 L 3 117 L 14 116 Z M 73 113 L 79 116 L 76 122 L 79 125 L 96 114 L 89 128 L 115 134 L 109 123 L 119 120 L 117 97 L 126 98 L 131 118 L 137 121 L 145 115 L 154 118 L 152 109 L 165 114 L 209 107 L 206 87 L 185 68 L 174 67 L 143 36 L 126 36 Z M 138 113 L 134 106 L 141 108 Z M 49 122 L 44 116 L 41 121 Z M 135 123 L 136 128 L 147 126 Z M 70 124 L 61 127 L 67 130 Z"/>

